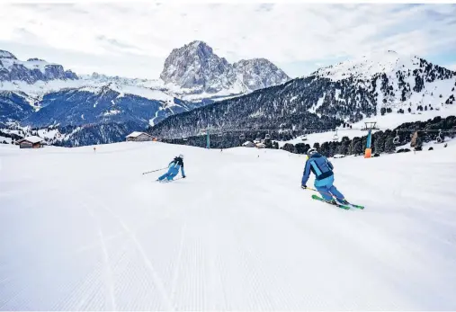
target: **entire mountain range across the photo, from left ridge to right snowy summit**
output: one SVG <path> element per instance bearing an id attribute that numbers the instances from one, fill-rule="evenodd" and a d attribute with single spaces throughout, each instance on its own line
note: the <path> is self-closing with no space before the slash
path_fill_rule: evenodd
<path id="1" fill-rule="evenodd" d="M 456 96 L 454 71 L 394 51 L 296 79 L 264 58 L 229 64 L 202 41 L 174 49 L 156 80 L 76 76 L 6 51 L 0 60 L 0 123 L 13 131 L 52 127 L 47 133 L 59 136 L 49 141 L 66 146 L 115 142 L 147 128 L 159 138 L 186 138 L 208 125 L 233 138 L 239 129 L 283 138 L 372 116 L 444 110 Z"/>

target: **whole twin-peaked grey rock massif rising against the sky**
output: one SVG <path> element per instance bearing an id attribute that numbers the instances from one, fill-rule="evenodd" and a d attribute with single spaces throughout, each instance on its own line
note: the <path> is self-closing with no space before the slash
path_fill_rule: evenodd
<path id="1" fill-rule="evenodd" d="M 223 89 L 245 93 L 290 80 L 282 70 L 264 58 L 229 64 L 202 41 L 193 41 L 183 48 L 174 49 L 165 60 L 160 78 L 166 84 L 210 94 Z"/>

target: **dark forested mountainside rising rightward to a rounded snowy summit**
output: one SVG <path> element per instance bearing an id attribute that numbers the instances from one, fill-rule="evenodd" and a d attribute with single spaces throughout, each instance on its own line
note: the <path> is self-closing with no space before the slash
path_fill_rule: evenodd
<path id="1" fill-rule="evenodd" d="M 209 124 L 227 131 L 271 129 L 272 138 L 278 138 L 281 131 L 335 129 L 385 114 L 445 110 L 456 104 L 455 88 L 456 72 L 424 58 L 387 51 L 173 116 L 152 132 L 182 138 L 201 133 Z"/>

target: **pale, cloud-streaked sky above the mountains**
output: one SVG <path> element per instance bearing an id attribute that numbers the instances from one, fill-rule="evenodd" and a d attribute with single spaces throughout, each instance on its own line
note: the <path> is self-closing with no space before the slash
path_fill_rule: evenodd
<path id="1" fill-rule="evenodd" d="M 0 27 L 0 49 L 76 73 L 157 78 L 192 40 L 291 77 L 388 49 L 456 70 L 456 4 L 0 4 Z"/>

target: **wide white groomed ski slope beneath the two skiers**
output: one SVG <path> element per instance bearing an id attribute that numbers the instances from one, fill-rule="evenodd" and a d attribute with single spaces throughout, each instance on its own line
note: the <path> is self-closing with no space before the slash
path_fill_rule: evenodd
<path id="1" fill-rule="evenodd" d="M 0 309 L 454 310 L 452 143 L 334 159 L 364 210 L 312 201 L 282 150 L 2 146 Z M 179 153 L 187 179 L 141 174 Z"/>

